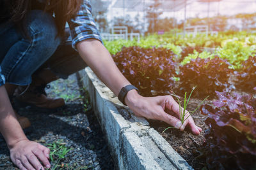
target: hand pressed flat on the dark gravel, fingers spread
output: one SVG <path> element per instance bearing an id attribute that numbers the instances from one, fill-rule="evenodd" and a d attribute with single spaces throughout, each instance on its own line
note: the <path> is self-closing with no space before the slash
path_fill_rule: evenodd
<path id="1" fill-rule="evenodd" d="M 19 141 L 10 148 L 12 162 L 21 170 L 44 170 L 44 166 L 50 168 L 49 153 L 49 148 L 28 139 Z M 39 160 L 44 166 L 40 164 Z"/>

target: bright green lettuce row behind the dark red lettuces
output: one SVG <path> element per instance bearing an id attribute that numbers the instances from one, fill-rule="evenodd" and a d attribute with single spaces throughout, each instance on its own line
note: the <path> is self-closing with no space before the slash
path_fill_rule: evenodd
<path id="1" fill-rule="evenodd" d="M 227 32 L 219 32 L 218 35 L 196 34 L 196 36 L 191 35 L 177 35 L 175 32 L 166 33 L 164 35 L 151 35 L 145 38 L 141 38 L 138 42 L 136 39 L 133 41 L 125 41 L 118 39 L 115 41 L 104 41 L 104 45 L 108 48 L 109 52 L 114 55 L 119 52 L 123 46 L 140 46 L 143 48 L 156 47 L 166 47 L 173 50 L 177 55 L 180 54 L 180 47 L 184 48 L 190 46 L 192 48 L 223 48 L 227 42 L 241 43 L 243 46 L 255 46 L 256 45 L 256 34 L 250 34 L 248 32 L 236 32 L 235 34 L 229 34 Z M 177 47 L 178 46 L 178 47 Z"/>

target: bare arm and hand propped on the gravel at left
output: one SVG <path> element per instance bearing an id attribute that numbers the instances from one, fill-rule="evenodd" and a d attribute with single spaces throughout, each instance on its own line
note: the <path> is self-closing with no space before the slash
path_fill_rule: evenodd
<path id="1" fill-rule="evenodd" d="M 6 89 L 0 87 L 0 132 L 10 149 L 12 162 L 20 169 L 44 169 L 49 163 L 49 148 L 29 141 L 15 116 Z"/>

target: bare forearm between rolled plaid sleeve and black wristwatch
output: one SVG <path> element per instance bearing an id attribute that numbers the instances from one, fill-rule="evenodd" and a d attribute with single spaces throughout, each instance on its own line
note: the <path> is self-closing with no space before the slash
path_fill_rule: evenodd
<path id="1" fill-rule="evenodd" d="M 116 96 L 129 81 L 120 73 L 108 50 L 95 39 L 88 39 L 77 44 L 83 60 L 94 73 L 111 89 Z"/>

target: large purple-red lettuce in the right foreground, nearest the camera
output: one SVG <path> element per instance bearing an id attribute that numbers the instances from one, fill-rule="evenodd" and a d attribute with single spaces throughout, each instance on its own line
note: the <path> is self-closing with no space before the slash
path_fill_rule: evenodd
<path id="1" fill-rule="evenodd" d="M 256 168 L 256 98 L 216 92 L 213 106 L 201 106 L 205 123 L 205 156 L 209 169 Z"/>

